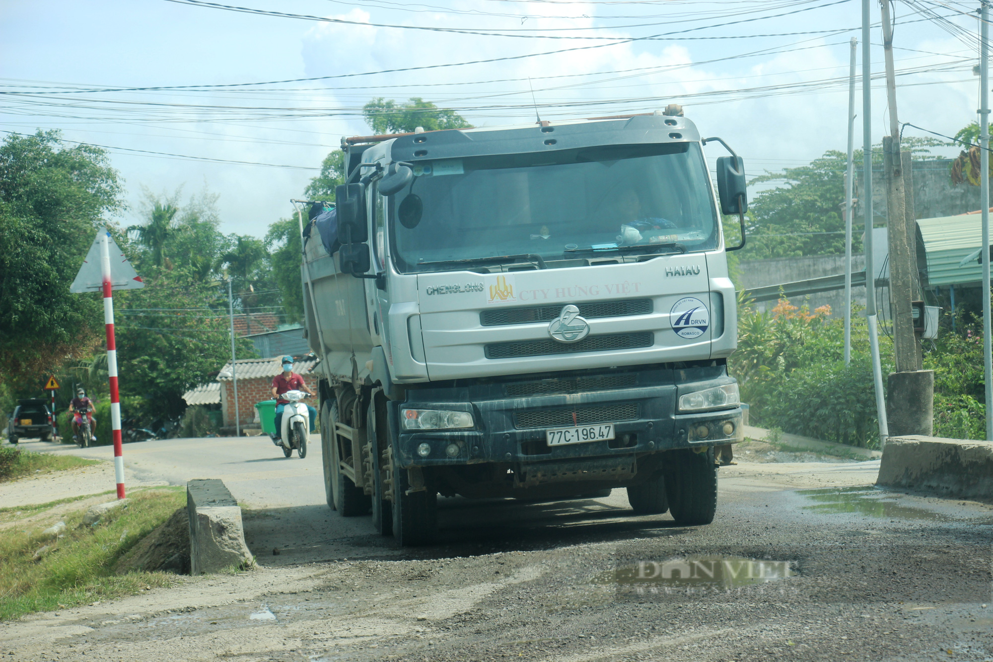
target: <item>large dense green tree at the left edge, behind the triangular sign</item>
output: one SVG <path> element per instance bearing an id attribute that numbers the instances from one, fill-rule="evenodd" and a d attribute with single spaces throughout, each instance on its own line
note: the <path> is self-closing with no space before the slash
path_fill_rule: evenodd
<path id="1" fill-rule="evenodd" d="M 98 297 L 69 286 L 120 195 L 102 149 L 58 131 L 0 144 L 0 383 L 39 379 L 99 343 Z"/>

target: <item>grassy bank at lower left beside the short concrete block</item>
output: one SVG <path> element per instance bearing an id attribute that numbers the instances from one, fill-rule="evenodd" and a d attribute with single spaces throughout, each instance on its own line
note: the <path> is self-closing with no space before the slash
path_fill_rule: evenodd
<path id="1" fill-rule="evenodd" d="M 170 573 L 117 571 L 127 553 L 185 503 L 182 488 L 146 490 L 93 525 L 83 524 L 80 509 L 61 517 L 64 527 L 0 529 L 0 621 L 171 585 L 177 576 Z M 0 525 L 22 510 L 0 511 Z"/>

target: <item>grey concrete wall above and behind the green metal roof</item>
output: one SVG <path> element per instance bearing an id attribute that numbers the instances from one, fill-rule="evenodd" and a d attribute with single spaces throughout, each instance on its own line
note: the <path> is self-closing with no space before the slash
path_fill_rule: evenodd
<path id="1" fill-rule="evenodd" d="M 968 183 L 952 186 L 951 178 L 948 176 L 951 163 L 951 159 L 914 162 L 914 213 L 917 218 L 935 219 L 943 216 L 957 216 L 982 209 L 978 186 L 972 186 Z M 857 200 L 863 200 L 864 179 L 861 174 L 856 175 L 855 197 Z M 887 219 L 886 182 L 883 179 L 882 166 L 873 168 L 872 191 L 873 217 L 877 224 L 885 223 Z M 990 194 L 990 202 L 987 203 L 987 206 L 993 206 L 993 189 L 991 189 Z M 861 223 L 865 214 L 861 205 L 856 205 L 855 214 L 857 222 Z"/>

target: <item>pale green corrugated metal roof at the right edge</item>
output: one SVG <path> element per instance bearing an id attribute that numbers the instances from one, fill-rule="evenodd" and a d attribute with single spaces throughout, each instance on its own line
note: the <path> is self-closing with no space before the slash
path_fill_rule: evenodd
<path id="1" fill-rule="evenodd" d="M 983 269 L 977 261 L 958 265 L 963 257 L 982 246 L 981 219 L 978 214 L 970 214 L 918 221 L 927 256 L 928 284 L 954 285 L 982 280 Z"/>

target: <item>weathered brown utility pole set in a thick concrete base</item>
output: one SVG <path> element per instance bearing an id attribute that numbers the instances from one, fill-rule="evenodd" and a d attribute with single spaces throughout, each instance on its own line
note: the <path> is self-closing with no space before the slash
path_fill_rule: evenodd
<path id="1" fill-rule="evenodd" d="M 883 138 L 883 169 L 887 184 L 887 228 L 890 248 L 890 306 L 893 310 L 893 345 L 897 372 L 890 375 L 887 418 L 890 433 L 930 435 L 933 428 L 934 373 L 921 370 L 921 355 L 914 332 L 914 272 L 917 270 L 914 219 L 908 219 L 904 157 L 900 150 L 897 114 L 897 79 L 893 65 L 891 0 L 881 0 L 883 53 L 886 60 L 886 95 L 890 106 L 890 135 Z M 910 195 L 914 195 L 913 191 Z M 909 227 L 909 223 L 911 224 Z"/>

